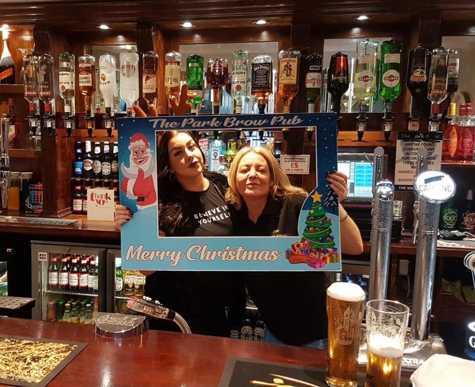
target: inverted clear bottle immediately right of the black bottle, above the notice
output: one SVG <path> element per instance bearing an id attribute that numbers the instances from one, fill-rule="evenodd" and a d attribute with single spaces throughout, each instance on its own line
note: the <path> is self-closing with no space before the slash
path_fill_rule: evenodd
<path id="1" fill-rule="evenodd" d="M 449 52 L 445 48 L 432 51 L 427 99 L 431 102 L 429 131 L 437 131 L 439 126 L 439 105 L 447 97 Z"/>

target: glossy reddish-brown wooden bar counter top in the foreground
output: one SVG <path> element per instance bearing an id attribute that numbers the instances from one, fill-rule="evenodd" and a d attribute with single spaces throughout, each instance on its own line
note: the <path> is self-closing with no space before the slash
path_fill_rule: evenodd
<path id="1" fill-rule="evenodd" d="M 322 368 L 327 359 L 311 348 L 160 331 L 110 339 L 95 335 L 93 325 L 14 318 L 0 318 L 2 334 L 88 343 L 48 387 L 215 387 L 229 356 Z"/>

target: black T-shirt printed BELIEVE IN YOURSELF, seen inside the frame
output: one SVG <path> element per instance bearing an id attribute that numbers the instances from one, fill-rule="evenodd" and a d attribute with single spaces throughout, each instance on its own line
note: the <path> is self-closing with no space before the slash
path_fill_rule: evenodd
<path id="1" fill-rule="evenodd" d="M 193 237 L 227 237 L 233 235 L 231 212 L 214 184 L 206 191 L 185 191 L 189 216 L 193 220 Z"/>

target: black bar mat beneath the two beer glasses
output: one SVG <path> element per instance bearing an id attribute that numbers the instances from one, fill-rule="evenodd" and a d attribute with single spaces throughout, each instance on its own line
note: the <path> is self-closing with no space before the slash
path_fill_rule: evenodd
<path id="1" fill-rule="evenodd" d="M 328 387 L 325 372 L 325 368 L 229 357 L 219 387 Z M 365 374 L 360 373 L 358 386 L 364 385 Z M 400 387 L 410 386 L 409 379 L 401 377 Z"/>

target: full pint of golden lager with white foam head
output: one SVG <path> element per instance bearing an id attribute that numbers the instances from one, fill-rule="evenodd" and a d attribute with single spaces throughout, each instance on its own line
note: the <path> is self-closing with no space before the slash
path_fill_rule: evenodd
<path id="1" fill-rule="evenodd" d="M 327 376 L 331 387 L 358 385 L 358 351 L 366 293 L 356 284 L 335 282 L 327 289 Z"/>

